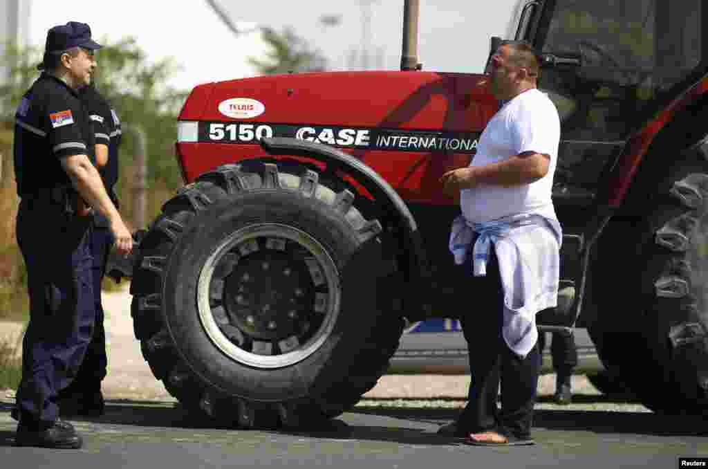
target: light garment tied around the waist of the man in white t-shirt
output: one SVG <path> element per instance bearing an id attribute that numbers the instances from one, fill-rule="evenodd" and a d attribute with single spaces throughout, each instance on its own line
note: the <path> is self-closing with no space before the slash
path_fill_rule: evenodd
<path id="1" fill-rule="evenodd" d="M 515 354 L 525 357 L 538 339 L 536 313 L 556 306 L 561 226 L 557 220 L 536 214 L 470 226 L 459 215 L 452 222 L 449 242 L 455 264 L 464 264 L 475 232 L 479 236 L 472 247 L 474 276 L 486 275 L 486 259 L 493 245 L 504 290 L 502 335 Z"/>

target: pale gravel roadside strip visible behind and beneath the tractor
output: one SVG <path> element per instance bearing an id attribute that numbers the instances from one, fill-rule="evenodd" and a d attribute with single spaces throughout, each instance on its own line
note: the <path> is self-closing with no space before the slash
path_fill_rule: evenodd
<path id="1" fill-rule="evenodd" d="M 108 375 L 103 381 L 103 392 L 109 400 L 161 400 L 174 402 L 164 385 L 156 380 L 142 358 L 139 342 L 135 339 L 130 317 L 131 296 L 124 290 L 103 292 Z M 22 325 L 5 323 L 0 337 L 16 340 Z M 360 405 L 385 407 L 442 407 L 464 406 L 469 387 L 469 375 L 384 375 L 379 383 L 364 395 Z M 555 388 L 555 375 L 539 379 L 538 409 L 558 408 L 550 397 Z M 650 412 L 632 402 L 609 402 L 585 375 L 573 375 L 576 402 L 563 407 L 568 410 L 622 410 Z M 0 393 L 1 395 L 2 393 Z"/>

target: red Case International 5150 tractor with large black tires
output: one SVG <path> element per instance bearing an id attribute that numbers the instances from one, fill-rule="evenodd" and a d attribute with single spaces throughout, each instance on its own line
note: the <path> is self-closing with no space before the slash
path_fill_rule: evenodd
<path id="1" fill-rule="evenodd" d="M 474 309 L 438 179 L 469 164 L 498 103 L 484 75 L 421 70 L 417 16 L 406 1 L 401 71 L 191 92 L 186 186 L 142 237 L 130 290 L 144 357 L 186 407 L 241 427 L 329 419 L 377 383 L 406 320 Z M 563 130 L 563 288 L 539 324 L 587 327 L 651 409 L 705 413 L 708 7 L 535 0 L 517 20 Z"/>

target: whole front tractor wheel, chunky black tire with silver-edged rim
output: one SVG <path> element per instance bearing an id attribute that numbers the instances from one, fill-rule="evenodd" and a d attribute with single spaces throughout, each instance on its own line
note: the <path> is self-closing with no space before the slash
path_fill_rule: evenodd
<path id="1" fill-rule="evenodd" d="M 144 358 L 185 407 L 223 424 L 326 422 L 399 344 L 381 225 L 350 191 L 295 172 L 220 166 L 169 200 L 141 244 L 131 293 Z"/>

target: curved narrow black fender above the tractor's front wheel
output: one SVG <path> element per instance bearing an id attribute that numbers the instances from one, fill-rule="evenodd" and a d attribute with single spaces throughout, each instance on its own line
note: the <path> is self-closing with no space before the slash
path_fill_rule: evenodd
<path id="1" fill-rule="evenodd" d="M 261 139 L 261 147 L 271 155 L 309 157 L 328 165 L 332 164 L 353 176 L 378 203 L 383 203 L 389 209 L 389 213 L 394 213 L 398 218 L 398 225 L 404 237 L 404 249 L 409 257 L 408 271 L 413 274 L 409 277 L 409 281 L 430 278 L 421 234 L 411 210 L 396 190 L 370 166 L 329 145 L 297 138 L 266 137 Z"/>

